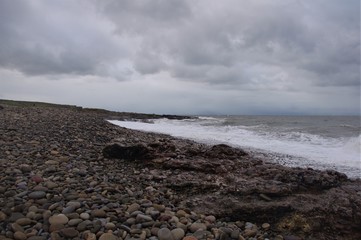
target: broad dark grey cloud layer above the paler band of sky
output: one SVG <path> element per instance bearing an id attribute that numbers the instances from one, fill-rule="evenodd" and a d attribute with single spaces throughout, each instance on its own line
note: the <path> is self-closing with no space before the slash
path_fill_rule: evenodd
<path id="1" fill-rule="evenodd" d="M 359 1 L 0 4 L 0 65 L 30 75 L 123 80 L 134 70 L 165 71 L 187 81 L 252 85 L 267 83 L 277 68 L 288 81 L 359 85 Z"/>

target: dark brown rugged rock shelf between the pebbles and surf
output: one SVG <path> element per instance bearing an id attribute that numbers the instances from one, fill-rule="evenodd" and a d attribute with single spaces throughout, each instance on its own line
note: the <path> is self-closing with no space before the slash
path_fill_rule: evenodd
<path id="1" fill-rule="evenodd" d="M 162 139 L 137 146 L 130 145 L 136 152 L 127 154 L 149 160 L 138 161 L 138 168 L 152 169 L 144 178 L 176 192 L 183 208 L 231 221 L 268 222 L 275 231 L 305 239 L 328 239 L 325 228 L 361 236 L 361 184 L 345 174 L 271 164 L 225 144 Z"/>

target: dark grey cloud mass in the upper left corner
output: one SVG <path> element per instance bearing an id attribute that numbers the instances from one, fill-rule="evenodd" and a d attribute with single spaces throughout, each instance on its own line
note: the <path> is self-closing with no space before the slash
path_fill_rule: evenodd
<path id="1" fill-rule="evenodd" d="M 1 1 L 0 65 L 29 75 L 86 75 L 121 58 L 125 51 L 87 4 Z"/>

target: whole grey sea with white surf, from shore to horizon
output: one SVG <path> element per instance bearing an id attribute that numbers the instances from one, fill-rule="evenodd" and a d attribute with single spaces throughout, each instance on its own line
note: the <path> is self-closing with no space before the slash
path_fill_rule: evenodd
<path id="1" fill-rule="evenodd" d="M 224 143 L 285 166 L 333 169 L 361 178 L 360 116 L 196 116 L 109 122 L 204 144 Z"/>

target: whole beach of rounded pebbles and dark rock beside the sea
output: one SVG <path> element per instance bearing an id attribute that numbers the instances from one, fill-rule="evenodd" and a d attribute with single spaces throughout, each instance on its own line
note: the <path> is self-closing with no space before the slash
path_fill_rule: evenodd
<path id="1" fill-rule="evenodd" d="M 0 239 L 361 239 L 344 174 L 105 121 L 136 114 L 1 106 Z"/>

